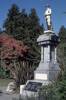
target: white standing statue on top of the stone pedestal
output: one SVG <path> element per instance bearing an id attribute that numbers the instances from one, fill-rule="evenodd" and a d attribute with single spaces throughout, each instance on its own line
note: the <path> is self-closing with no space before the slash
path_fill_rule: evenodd
<path id="1" fill-rule="evenodd" d="M 45 11 L 45 19 L 48 30 L 52 30 L 51 14 L 52 14 L 51 8 L 48 6 Z"/>

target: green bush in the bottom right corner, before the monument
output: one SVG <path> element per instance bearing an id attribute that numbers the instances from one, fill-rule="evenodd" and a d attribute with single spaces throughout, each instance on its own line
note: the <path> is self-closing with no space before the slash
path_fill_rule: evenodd
<path id="1" fill-rule="evenodd" d="M 66 80 L 43 86 L 39 92 L 39 100 L 66 100 Z"/>

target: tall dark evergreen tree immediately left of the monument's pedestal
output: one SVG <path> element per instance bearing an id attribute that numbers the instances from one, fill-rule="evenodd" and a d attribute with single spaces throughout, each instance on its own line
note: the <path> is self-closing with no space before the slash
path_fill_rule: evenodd
<path id="1" fill-rule="evenodd" d="M 34 56 L 34 58 L 36 58 L 36 60 L 38 61 L 38 59 L 40 58 L 40 49 L 37 45 L 37 38 L 40 34 L 43 33 L 43 26 L 40 25 L 39 17 L 34 8 L 31 9 L 31 12 L 29 13 L 28 31 L 29 39 L 27 45 L 31 47 L 31 53 Z"/>

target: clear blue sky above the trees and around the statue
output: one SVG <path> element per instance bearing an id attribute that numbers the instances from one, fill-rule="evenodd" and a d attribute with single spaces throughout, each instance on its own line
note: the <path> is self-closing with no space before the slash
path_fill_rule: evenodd
<path id="1" fill-rule="evenodd" d="M 20 10 L 26 9 L 26 12 L 30 12 L 31 8 L 35 8 L 37 15 L 39 16 L 40 23 L 44 24 L 45 19 L 44 12 L 47 5 L 52 9 L 52 25 L 56 33 L 62 25 L 66 27 L 66 0 L 0 0 L 0 28 L 3 29 L 3 23 L 7 17 L 8 10 L 12 4 L 16 4 Z"/>

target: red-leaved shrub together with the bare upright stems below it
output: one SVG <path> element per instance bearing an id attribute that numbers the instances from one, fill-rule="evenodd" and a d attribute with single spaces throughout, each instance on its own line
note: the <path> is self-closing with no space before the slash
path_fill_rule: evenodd
<path id="1" fill-rule="evenodd" d="M 31 63 L 26 60 L 29 48 L 7 34 L 0 35 L 0 44 L 1 67 L 10 71 L 17 85 L 24 83 L 33 71 L 28 71 Z"/>

